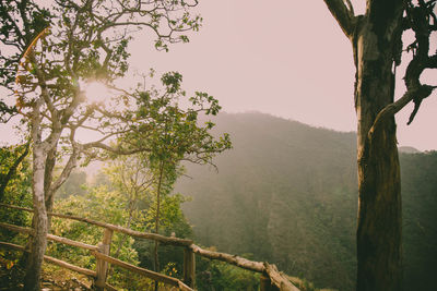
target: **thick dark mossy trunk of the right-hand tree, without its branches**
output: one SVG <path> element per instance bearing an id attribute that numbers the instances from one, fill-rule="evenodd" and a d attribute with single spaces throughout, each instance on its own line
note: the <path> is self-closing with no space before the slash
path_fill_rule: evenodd
<path id="1" fill-rule="evenodd" d="M 381 2 L 379 2 L 381 3 Z M 381 5 L 381 4 L 380 4 Z M 383 5 L 383 4 L 382 4 Z M 353 37 L 358 120 L 357 290 L 401 290 L 401 186 L 394 118 L 373 129 L 377 114 L 393 101 L 393 46 L 401 13 L 363 17 Z M 371 8 L 370 8 L 371 11 Z"/>

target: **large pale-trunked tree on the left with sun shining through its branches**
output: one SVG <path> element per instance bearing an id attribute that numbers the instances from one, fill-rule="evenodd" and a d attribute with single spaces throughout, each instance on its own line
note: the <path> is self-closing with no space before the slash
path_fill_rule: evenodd
<path id="1" fill-rule="evenodd" d="M 157 49 L 168 44 L 188 41 L 187 31 L 197 31 L 200 16 L 189 10 L 197 1 L 133 0 L 55 0 L 42 8 L 33 0 L 1 2 L 0 41 L 8 53 L 0 57 L 0 78 L 16 99 L 12 111 L 29 124 L 33 153 L 33 203 L 35 234 L 32 239 L 25 289 L 38 290 L 46 234 L 56 191 L 84 155 L 93 158 L 98 150 L 132 154 L 147 148 L 126 149 L 122 136 L 132 131 L 132 106 L 137 95 L 118 90 L 107 110 L 97 102 L 86 102 L 82 89 L 87 80 L 114 84 L 127 70 L 127 46 L 135 29 L 149 28 Z M 134 102 L 133 102 L 134 105 Z M 131 109 L 133 107 L 130 107 Z M 2 113 L 9 112 L 3 108 Z M 3 110 L 4 109 L 4 110 Z M 141 121 L 147 126 L 150 117 Z M 97 124 L 97 125 L 96 125 Z M 134 126 L 133 126 L 134 128 Z M 79 129 L 95 132 L 99 138 L 80 143 Z M 117 141 L 111 146 L 109 141 Z M 59 157 L 67 157 L 61 174 L 54 180 Z"/>

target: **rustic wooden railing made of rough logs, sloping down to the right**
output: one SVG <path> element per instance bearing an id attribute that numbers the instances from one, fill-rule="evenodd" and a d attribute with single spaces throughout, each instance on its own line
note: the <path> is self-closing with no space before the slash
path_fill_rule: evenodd
<path id="1" fill-rule="evenodd" d="M 33 213 L 33 209 L 0 204 L 2 207 L 8 207 L 12 209 L 24 210 L 28 213 Z M 44 256 L 44 259 L 48 263 L 58 265 L 62 268 L 71 269 L 73 271 L 90 276 L 94 279 L 94 284 L 97 290 L 116 290 L 113 286 L 106 282 L 107 271 L 108 271 L 108 264 L 119 266 L 121 268 L 128 269 L 132 272 L 145 276 L 150 279 L 153 279 L 158 282 L 163 282 L 165 284 L 169 284 L 179 290 L 189 291 L 193 290 L 196 286 L 196 254 L 206 257 L 210 259 L 217 259 L 222 262 L 226 262 L 234 266 L 260 272 L 261 280 L 260 280 L 260 290 L 261 291 L 277 291 L 277 290 L 285 290 L 285 291 L 298 291 L 298 289 L 291 282 L 290 277 L 280 272 L 274 265 L 269 263 L 261 263 L 261 262 L 253 262 L 246 259 L 240 256 L 229 255 L 226 253 L 218 253 L 213 251 L 203 250 L 200 246 L 196 245 L 193 241 L 187 239 L 179 239 L 174 237 L 165 237 L 156 233 L 146 233 L 134 231 L 131 229 L 127 229 L 120 226 L 115 226 L 110 223 L 105 223 L 102 221 L 95 221 L 88 218 L 83 217 L 75 217 L 71 215 L 62 215 L 62 214 L 55 214 L 48 213 L 48 216 L 58 217 L 63 219 L 72 219 L 76 221 L 82 221 L 88 225 L 94 225 L 104 229 L 103 240 L 97 245 L 90 245 L 82 242 L 76 242 L 73 240 L 69 240 L 66 238 L 57 237 L 54 234 L 47 234 L 47 240 L 56 241 L 58 243 L 63 243 L 76 247 L 81 247 L 84 250 L 88 250 L 91 254 L 96 258 L 96 270 L 90 270 L 86 268 L 82 268 L 67 262 L 60 260 L 55 257 Z M 11 231 L 16 231 L 21 233 L 25 233 L 28 235 L 33 235 L 34 230 L 31 228 L 23 228 L 17 227 L 4 222 L 0 222 L 0 228 L 8 229 Z M 133 238 L 146 239 L 158 241 L 161 244 L 164 245 L 176 245 L 184 247 L 184 279 L 182 281 L 160 272 L 151 271 L 144 268 L 140 268 L 138 266 L 128 264 L 109 255 L 110 242 L 113 238 L 114 231 L 121 232 L 128 234 Z M 19 251 L 26 251 L 23 246 L 11 244 L 8 242 L 0 242 L 0 246 L 14 248 Z"/>

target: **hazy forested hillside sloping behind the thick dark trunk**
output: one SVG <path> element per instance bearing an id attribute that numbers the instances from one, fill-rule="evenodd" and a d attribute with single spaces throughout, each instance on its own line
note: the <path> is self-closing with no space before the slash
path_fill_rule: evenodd
<path id="1" fill-rule="evenodd" d="M 357 181 L 354 133 L 261 113 L 221 114 L 234 149 L 189 166 L 177 190 L 197 240 L 251 254 L 323 288 L 353 290 Z M 437 154 L 402 154 L 405 290 L 433 290 Z"/>

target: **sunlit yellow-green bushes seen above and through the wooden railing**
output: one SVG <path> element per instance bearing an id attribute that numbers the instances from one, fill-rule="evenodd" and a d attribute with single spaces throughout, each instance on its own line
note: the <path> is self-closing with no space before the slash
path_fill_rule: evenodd
<path id="1" fill-rule="evenodd" d="M 85 187 L 85 195 L 71 195 L 58 201 L 56 211 L 151 232 L 155 227 L 156 175 L 154 169 L 149 167 L 147 160 L 140 159 L 138 155 L 119 157 L 103 171 L 109 184 Z M 178 238 L 187 238 L 191 235 L 191 228 L 180 210 L 180 204 L 186 198 L 180 194 L 170 194 L 175 179 L 176 175 L 166 177 L 163 186 L 161 233 L 165 235 L 175 233 Z M 94 245 L 102 240 L 103 234 L 101 228 L 56 218 L 52 222 L 52 232 Z M 116 232 L 113 238 L 111 256 L 153 269 L 153 247 L 154 243 L 151 241 L 134 241 L 130 237 Z M 54 256 L 80 266 L 87 268 L 95 266 L 94 258 L 87 255 L 85 251 L 56 243 L 51 243 L 48 250 Z M 182 254 L 180 247 L 161 247 L 161 260 L 163 266 L 166 266 L 164 271 L 172 270 L 175 276 L 180 276 L 184 264 Z M 110 272 L 109 280 L 114 286 L 128 290 L 142 289 L 151 283 L 150 280 L 144 278 L 132 281 L 133 278 L 137 277 L 117 268 Z"/>

